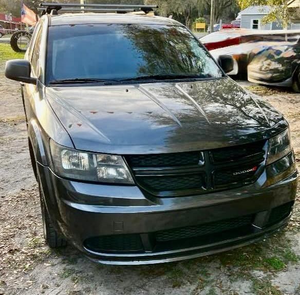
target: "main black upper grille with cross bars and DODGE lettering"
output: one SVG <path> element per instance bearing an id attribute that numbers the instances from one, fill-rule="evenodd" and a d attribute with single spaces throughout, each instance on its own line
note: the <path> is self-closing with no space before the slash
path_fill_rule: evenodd
<path id="1" fill-rule="evenodd" d="M 211 151 L 127 155 L 137 185 L 159 197 L 231 189 L 253 183 L 266 157 L 266 141 Z"/>

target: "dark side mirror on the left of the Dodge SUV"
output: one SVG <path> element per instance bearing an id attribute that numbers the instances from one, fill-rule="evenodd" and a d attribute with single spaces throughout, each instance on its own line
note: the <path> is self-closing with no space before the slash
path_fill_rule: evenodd
<path id="1" fill-rule="evenodd" d="M 26 60 L 10 60 L 5 65 L 5 77 L 11 80 L 36 84 L 37 79 L 30 77 L 31 66 Z"/>

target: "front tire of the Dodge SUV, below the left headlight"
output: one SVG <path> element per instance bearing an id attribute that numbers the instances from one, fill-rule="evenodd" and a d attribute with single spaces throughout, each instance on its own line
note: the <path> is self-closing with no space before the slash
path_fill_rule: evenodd
<path id="1" fill-rule="evenodd" d="M 60 248 L 67 245 L 67 241 L 61 234 L 59 234 L 53 227 L 49 213 L 47 211 L 44 193 L 41 188 L 41 183 L 39 181 L 40 189 L 40 200 L 41 200 L 41 211 L 42 211 L 42 220 L 43 220 L 43 232 L 46 243 L 50 248 Z"/>

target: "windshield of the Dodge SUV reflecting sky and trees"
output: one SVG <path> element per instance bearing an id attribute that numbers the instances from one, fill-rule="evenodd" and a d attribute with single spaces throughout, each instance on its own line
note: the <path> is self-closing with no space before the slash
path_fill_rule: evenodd
<path id="1" fill-rule="evenodd" d="M 70 79 L 223 75 L 209 53 L 180 26 L 53 26 L 49 27 L 47 55 L 47 84 Z"/>

